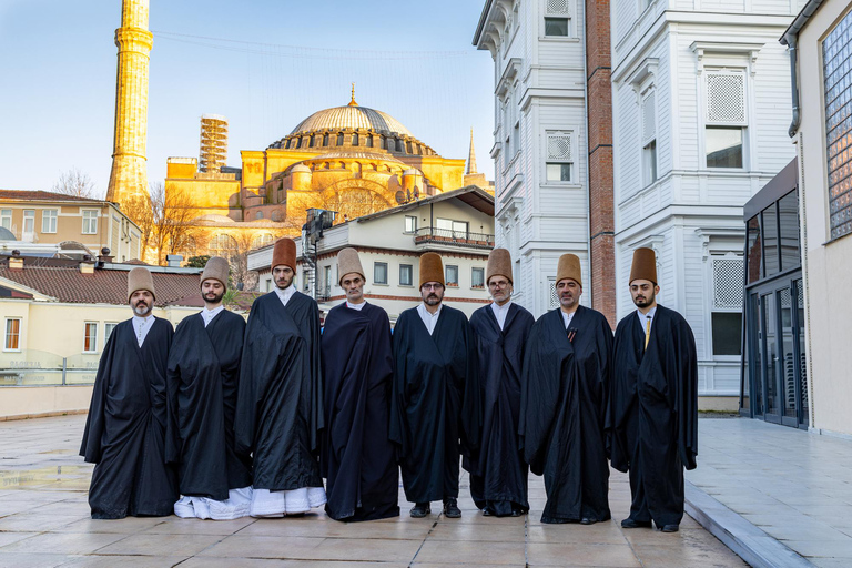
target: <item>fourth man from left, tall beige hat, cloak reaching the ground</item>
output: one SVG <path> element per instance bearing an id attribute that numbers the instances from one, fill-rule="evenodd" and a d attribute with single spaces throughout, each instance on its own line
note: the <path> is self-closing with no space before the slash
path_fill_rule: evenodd
<path id="1" fill-rule="evenodd" d="M 355 248 L 337 254 L 337 274 L 346 302 L 328 312 L 323 328 L 325 511 L 345 521 L 398 517 L 399 474 L 387 437 L 390 322 L 364 300 L 366 280 Z"/>

